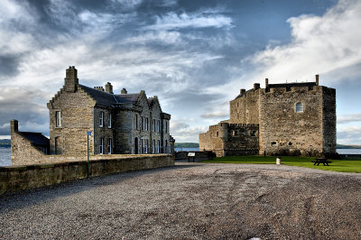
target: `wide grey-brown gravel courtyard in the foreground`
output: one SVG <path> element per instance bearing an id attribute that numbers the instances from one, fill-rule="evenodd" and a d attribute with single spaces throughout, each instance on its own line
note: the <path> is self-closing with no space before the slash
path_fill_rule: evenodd
<path id="1" fill-rule="evenodd" d="M 361 174 L 178 162 L 0 196 L 0 239 L 361 239 Z"/>

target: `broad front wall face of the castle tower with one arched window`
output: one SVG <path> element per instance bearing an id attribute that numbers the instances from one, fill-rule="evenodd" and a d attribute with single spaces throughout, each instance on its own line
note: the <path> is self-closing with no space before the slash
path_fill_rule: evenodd
<path id="1" fill-rule="evenodd" d="M 314 156 L 322 152 L 322 141 L 322 87 L 261 90 L 260 154 Z"/>

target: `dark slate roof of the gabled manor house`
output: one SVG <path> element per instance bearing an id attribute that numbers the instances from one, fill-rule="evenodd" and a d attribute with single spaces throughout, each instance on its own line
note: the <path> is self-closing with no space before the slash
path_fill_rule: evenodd
<path id="1" fill-rule="evenodd" d="M 97 105 L 100 106 L 114 107 L 116 104 L 135 103 L 139 97 L 139 94 L 110 94 L 105 91 L 89 88 L 80 84 L 79 87 L 86 91 L 88 95 L 97 102 Z"/>

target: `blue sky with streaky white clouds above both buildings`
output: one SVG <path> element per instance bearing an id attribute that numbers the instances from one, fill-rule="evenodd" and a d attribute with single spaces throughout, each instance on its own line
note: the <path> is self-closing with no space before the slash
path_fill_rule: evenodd
<path id="1" fill-rule="evenodd" d="M 361 144 L 361 1 L 0 0 L 0 138 L 49 135 L 65 69 L 79 83 L 145 90 L 178 143 L 199 142 L 255 82 L 337 89 L 338 143 Z"/>

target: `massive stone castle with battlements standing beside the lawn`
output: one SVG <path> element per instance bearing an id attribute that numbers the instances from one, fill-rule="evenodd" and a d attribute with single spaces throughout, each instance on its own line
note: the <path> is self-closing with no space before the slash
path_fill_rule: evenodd
<path id="1" fill-rule="evenodd" d="M 199 149 L 217 156 L 336 152 L 336 90 L 315 82 L 255 83 L 230 101 L 230 119 L 199 134 Z"/>

